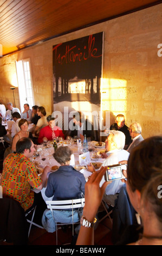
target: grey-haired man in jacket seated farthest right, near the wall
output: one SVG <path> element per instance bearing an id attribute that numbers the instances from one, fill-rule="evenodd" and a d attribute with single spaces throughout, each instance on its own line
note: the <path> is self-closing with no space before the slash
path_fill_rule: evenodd
<path id="1" fill-rule="evenodd" d="M 131 150 L 136 147 L 141 141 L 144 141 L 144 138 L 141 136 L 142 128 L 139 123 L 132 123 L 129 126 L 129 133 L 132 137 L 132 143 L 127 148 L 127 151 L 131 153 Z"/>

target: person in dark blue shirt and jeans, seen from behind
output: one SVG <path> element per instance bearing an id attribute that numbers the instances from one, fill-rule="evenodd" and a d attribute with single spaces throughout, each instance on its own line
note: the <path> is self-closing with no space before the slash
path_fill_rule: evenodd
<path id="1" fill-rule="evenodd" d="M 53 154 L 55 160 L 61 164 L 56 172 L 49 174 L 45 194 L 53 197 L 53 200 L 68 200 L 84 197 L 86 180 L 82 173 L 70 166 L 72 150 L 69 147 L 60 146 Z M 74 222 L 79 221 L 79 212 L 74 211 Z M 55 221 L 73 222 L 72 214 L 68 210 L 53 210 Z M 46 209 L 42 217 L 43 227 L 53 233 L 56 230 L 55 221 L 51 211 Z"/>

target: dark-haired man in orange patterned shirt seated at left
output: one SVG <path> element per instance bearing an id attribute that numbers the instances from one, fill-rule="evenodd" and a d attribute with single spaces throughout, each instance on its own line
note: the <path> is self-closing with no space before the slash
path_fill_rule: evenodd
<path id="1" fill-rule="evenodd" d="M 41 190 L 46 184 L 47 174 L 51 170 L 49 166 L 46 166 L 42 175 L 38 176 L 34 164 L 29 160 L 34 151 L 33 141 L 30 138 L 21 138 L 16 143 L 16 154 L 10 154 L 4 160 L 0 182 L 3 196 L 14 198 L 20 202 L 25 211 L 33 205 L 35 199 L 31 187 Z"/>

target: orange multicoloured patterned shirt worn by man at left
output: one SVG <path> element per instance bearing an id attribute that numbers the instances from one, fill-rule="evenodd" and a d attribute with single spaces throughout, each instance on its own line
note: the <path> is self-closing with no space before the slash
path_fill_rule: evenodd
<path id="1" fill-rule="evenodd" d="M 14 198 L 20 202 L 22 208 L 27 210 L 34 202 L 34 191 L 42 184 L 35 166 L 23 154 L 10 154 L 4 160 L 1 186 L 3 195 Z"/>

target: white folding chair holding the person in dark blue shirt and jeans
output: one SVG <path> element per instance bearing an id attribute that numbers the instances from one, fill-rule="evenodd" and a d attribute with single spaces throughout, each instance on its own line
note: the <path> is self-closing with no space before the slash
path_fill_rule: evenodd
<path id="1" fill-rule="evenodd" d="M 47 208 L 51 210 L 52 214 L 53 214 L 53 210 L 66 210 L 66 209 L 72 209 L 72 214 L 73 214 L 73 209 L 83 208 L 85 206 L 85 198 L 46 201 L 46 204 L 47 204 Z M 57 226 L 73 224 L 73 235 L 74 235 L 74 223 L 79 224 L 80 222 L 60 223 L 55 221 L 55 223 L 56 223 L 56 245 L 57 245 Z"/>

